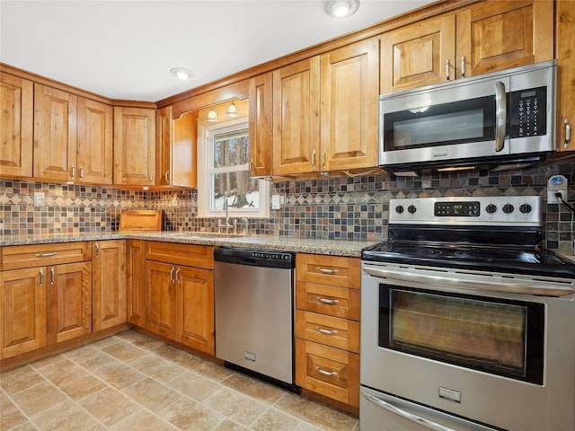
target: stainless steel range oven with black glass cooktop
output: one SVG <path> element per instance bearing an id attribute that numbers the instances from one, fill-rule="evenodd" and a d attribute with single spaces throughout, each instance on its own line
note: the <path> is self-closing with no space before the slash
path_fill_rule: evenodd
<path id="1" fill-rule="evenodd" d="M 541 198 L 404 198 L 362 252 L 362 430 L 575 429 L 575 266 Z"/>

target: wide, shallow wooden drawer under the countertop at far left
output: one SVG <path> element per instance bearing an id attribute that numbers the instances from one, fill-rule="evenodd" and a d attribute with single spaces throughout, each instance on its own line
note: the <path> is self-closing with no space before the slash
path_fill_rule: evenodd
<path id="1" fill-rule="evenodd" d="M 92 260 L 91 243 L 57 242 L 0 249 L 0 270 L 44 267 Z"/>

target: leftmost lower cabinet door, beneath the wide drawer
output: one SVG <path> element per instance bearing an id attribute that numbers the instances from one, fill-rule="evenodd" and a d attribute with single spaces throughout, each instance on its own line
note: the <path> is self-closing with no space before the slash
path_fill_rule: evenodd
<path id="1" fill-rule="evenodd" d="M 0 359 L 46 346 L 45 271 L 0 272 Z"/>

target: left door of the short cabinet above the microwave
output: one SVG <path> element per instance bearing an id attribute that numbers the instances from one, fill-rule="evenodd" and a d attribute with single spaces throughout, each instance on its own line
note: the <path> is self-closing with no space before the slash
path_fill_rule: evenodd
<path id="1" fill-rule="evenodd" d="M 456 18 L 438 16 L 389 31 L 381 37 L 381 93 L 453 79 Z"/>

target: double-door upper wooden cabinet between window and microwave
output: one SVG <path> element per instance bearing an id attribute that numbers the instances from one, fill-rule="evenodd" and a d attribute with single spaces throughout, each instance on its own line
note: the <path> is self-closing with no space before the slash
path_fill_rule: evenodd
<path id="1" fill-rule="evenodd" d="M 273 72 L 273 174 L 377 164 L 378 40 Z"/>

